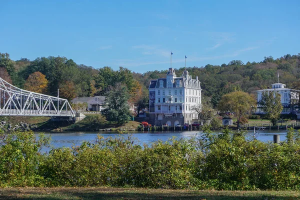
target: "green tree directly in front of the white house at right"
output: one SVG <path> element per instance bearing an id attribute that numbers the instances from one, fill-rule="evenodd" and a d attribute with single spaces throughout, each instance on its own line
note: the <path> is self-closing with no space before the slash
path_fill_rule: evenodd
<path id="1" fill-rule="evenodd" d="M 275 91 L 263 91 L 258 104 L 261 106 L 262 111 L 266 113 L 265 117 L 270 119 L 273 125 L 276 125 L 283 109 L 281 95 Z"/>

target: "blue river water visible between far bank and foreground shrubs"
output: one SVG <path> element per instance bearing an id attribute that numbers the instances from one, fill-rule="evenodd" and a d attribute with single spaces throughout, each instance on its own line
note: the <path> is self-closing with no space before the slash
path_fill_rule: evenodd
<path id="1" fill-rule="evenodd" d="M 180 138 L 189 138 L 191 136 L 200 136 L 202 131 L 157 131 L 157 132 L 142 132 L 142 131 L 130 131 L 129 134 L 132 134 L 133 137 L 137 139 L 138 144 L 157 141 L 158 139 L 166 141 L 169 138 L 175 136 L 177 139 Z M 101 132 L 46 132 L 46 135 L 50 135 L 51 145 L 53 147 L 71 147 L 72 145 L 80 145 L 82 141 L 94 141 L 97 137 L 97 134 L 106 137 L 115 137 L 118 133 L 112 131 L 101 131 Z M 255 136 L 256 139 L 259 139 L 264 142 L 272 142 L 273 134 L 280 135 L 280 141 L 285 139 L 286 130 L 259 130 Z M 38 136 L 38 133 L 35 133 Z M 126 134 L 124 134 L 126 136 Z M 246 134 L 247 139 L 253 139 L 253 130 L 248 130 Z M 47 151 L 47 150 L 46 150 Z"/>

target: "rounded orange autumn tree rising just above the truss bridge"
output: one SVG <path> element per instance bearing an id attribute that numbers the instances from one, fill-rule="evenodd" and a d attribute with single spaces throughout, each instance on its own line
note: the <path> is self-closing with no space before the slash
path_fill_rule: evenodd
<path id="1" fill-rule="evenodd" d="M 45 93 L 47 91 L 48 80 L 46 76 L 39 71 L 31 73 L 27 78 L 24 88 L 37 93 Z"/>

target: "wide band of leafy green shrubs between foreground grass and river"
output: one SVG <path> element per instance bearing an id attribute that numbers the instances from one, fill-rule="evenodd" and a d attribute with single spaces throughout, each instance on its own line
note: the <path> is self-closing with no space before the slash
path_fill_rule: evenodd
<path id="1" fill-rule="evenodd" d="M 189 139 L 137 144 L 131 134 L 50 147 L 32 131 L 0 134 L 0 187 L 142 187 L 299 190 L 300 132 L 286 140 L 246 140 L 225 128 Z M 50 150 L 41 153 L 43 147 Z"/>

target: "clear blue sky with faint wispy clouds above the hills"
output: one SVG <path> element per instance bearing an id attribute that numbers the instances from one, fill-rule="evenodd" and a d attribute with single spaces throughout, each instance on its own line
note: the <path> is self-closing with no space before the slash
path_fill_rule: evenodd
<path id="1" fill-rule="evenodd" d="M 6 0 L 0 52 L 135 72 L 300 52 L 299 0 Z"/>

